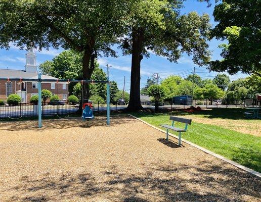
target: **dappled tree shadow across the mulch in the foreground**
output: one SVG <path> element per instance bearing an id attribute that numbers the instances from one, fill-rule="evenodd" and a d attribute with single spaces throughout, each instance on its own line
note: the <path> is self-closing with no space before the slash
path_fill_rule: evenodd
<path id="1" fill-rule="evenodd" d="M 239 169 L 198 165 L 152 165 L 143 173 L 116 166 L 91 173 L 24 176 L 6 189 L 10 201 L 258 201 L 260 180 Z M 103 201 L 102 200 L 102 201 Z"/>

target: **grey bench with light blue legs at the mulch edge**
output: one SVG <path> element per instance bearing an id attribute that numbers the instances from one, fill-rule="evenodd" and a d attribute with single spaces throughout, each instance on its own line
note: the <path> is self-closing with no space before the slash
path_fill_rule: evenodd
<path id="1" fill-rule="evenodd" d="M 181 133 L 187 131 L 188 125 L 191 125 L 192 119 L 185 119 L 185 118 L 170 116 L 169 120 L 172 121 L 172 125 L 171 126 L 170 125 L 166 125 L 166 124 L 160 125 L 161 127 L 166 128 L 166 139 L 168 140 L 168 130 L 173 130 L 173 131 L 179 132 L 179 145 L 181 145 Z M 186 124 L 185 128 L 182 129 L 182 128 L 175 127 L 174 126 L 175 122 L 185 123 Z"/>

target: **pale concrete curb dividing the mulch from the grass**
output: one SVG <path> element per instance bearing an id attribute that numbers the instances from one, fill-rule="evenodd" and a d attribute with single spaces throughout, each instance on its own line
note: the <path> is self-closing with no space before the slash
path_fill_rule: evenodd
<path id="1" fill-rule="evenodd" d="M 135 119 L 137 119 L 137 120 L 139 120 L 139 121 L 141 121 L 141 122 L 143 122 L 143 123 L 145 123 L 145 124 L 148 125 L 148 126 L 151 126 L 152 128 L 155 128 L 156 130 L 159 130 L 159 131 L 161 131 L 161 132 L 163 132 L 163 133 L 166 133 L 166 131 L 164 131 L 164 130 L 162 130 L 162 129 L 160 129 L 160 128 L 157 128 L 157 127 L 155 127 L 155 126 L 153 126 L 153 125 L 147 123 L 146 121 L 143 121 L 143 120 L 141 120 L 141 119 L 139 119 L 139 118 L 137 118 L 137 117 L 135 117 L 135 116 L 133 116 L 133 115 L 131 115 L 131 114 L 128 114 L 128 115 L 131 116 L 131 117 L 133 117 L 133 118 L 135 118 Z M 171 137 L 175 137 L 176 139 L 179 139 L 179 137 L 178 137 L 177 135 L 173 135 L 172 133 L 168 133 L 168 135 L 171 136 Z M 231 165 L 233 165 L 233 166 L 236 166 L 236 167 L 239 168 L 239 169 L 242 169 L 242 170 L 244 170 L 244 171 L 246 171 L 246 172 L 248 172 L 248 173 L 250 173 L 250 174 L 252 174 L 252 175 L 255 175 L 255 176 L 258 177 L 258 178 L 261 178 L 261 173 L 259 173 L 259 172 L 257 172 L 257 171 L 254 171 L 254 170 L 252 170 L 252 169 L 250 169 L 250 168 L 247 168 L 247 167 L 245 167 L 245 166 L 242 166 L 242 165 L 240 165 L 240 164 L 238 164 L 238 163 L 236 163 L 236 162 L 234 162 L 234 161 L 231 161 L 231 160 L 229 160 L 229 159 L 227 159 L 227 158 L 225 158 L 225 157 L 222 157 L 221 155 L 215 154 L 215 153 L 213 153 L 212 151 L 210 151 L 210 150 L 208 150 L 208 149 L 205 149 L 205 148 L 203 148 L 203 147 L 201 147 L 201 146 L 198 146 L 197 144 L 194 144 L 194 143 L 192 143 L 192 142 L 190 142 L 190 141 L 188 141 L 188 140 L 186 140 L 186 139 L 181 138 L 181 140 L 182 140 L 183 142 L 186 142 L 187 144 L 189 144 L 189 145 L 191 145 L 191 146 L 194 146 L 194 147 L 196 147 L 196 148 L 198 148 L 198 149 L 204 151 L 205 153 L 207 153 L 207 154 L 209 154 L 209 155 L 212 155 L 212 156 L 214 156 L 214 157 L 216 157 L 216 158 L 219 158 L 219 159 L 221 159 L 221 160 L 223 160 L 223 161 L 225 161 L 225 162 L 227 162 L 227 163 L 229 163 L 229 164 L 231 164 Z"/>

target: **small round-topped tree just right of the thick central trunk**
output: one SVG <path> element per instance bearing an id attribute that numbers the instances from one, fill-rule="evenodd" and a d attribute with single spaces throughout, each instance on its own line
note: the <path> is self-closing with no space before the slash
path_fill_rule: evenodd
<path id="1" fill-rule="evenodd" d="M 148 95 L 155 100 L 155 111 L 159 110 L 159 101 L 163 100 L 166 95 L 166 89 L 161 85 L 151 85 L 148 88 Z"/>

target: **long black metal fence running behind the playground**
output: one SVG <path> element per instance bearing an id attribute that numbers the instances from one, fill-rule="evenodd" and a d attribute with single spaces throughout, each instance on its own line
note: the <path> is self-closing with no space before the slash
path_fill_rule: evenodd
<path id="1" fill-rule="evenodd" d="M 142 101 L 141 105 L 144 109 L 155 111 L 155 102 Z M 106 114 L 106 102 L 92 102 L 94 114 Z M 157 104 L 156 104 L 157 105 Z M 179 102 L 159 102 L 158 108 L 162 109 L 187 109 L 191 105 L 200 108 L 237 108 L 237 107 L 258 107 L 260 101 L 256 99 L 200 99 L 200 100 L 180 100 Z M 120 110 L 127 108 L 128 103 L 114 102 L 110 104 L 110 112 L 117 113 Z M 48 116 L 79 116 L 79 104 L 70 104 L 64 102 L 46 103 L 41 106 L 41 113 L 43 117 Z M 31 103 L 20 104 L 18 106 L 0 106 L 0 120 L 4 118 L 17 119 L 20 117 L 34 117 L 38 116 L 38 105 Z"/>

